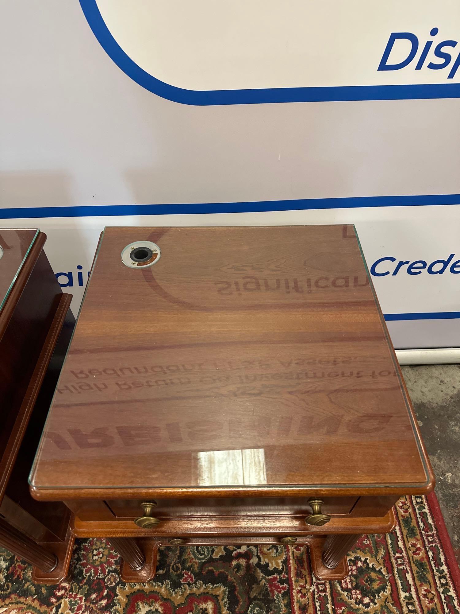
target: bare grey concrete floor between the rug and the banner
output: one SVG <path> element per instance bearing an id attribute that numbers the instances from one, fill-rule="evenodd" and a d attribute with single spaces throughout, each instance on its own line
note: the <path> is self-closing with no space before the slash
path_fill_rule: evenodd
<path id="1" fill-rule="evenodd" d="M 403 367 L 436 476 L 435 492 L 460 564 L 460 365 Z"/>

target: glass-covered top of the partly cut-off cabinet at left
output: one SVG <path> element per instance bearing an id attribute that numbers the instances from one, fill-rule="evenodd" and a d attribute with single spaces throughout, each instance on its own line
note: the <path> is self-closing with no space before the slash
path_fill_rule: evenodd
<path id="1" fill-rule="evenodd" d="M 0 309 L 38 234 L 37 228 L 0 228 Z"/>

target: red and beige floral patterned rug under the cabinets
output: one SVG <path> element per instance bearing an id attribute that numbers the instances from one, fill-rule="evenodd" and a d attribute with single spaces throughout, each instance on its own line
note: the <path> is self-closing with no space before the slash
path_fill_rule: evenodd
<path id="1" fill-rule="evenodd" d="M 1 551 L 0 614 L 458 614 L 435 496 L 401 499 L 397 517 L 391 534 L 359 540 L 337 582 L 315 580 L 301 546 L 164 548 L 155 579 L 129 585 L 104 540 L 77 540 L 71 580 L 49 587 Z"/>

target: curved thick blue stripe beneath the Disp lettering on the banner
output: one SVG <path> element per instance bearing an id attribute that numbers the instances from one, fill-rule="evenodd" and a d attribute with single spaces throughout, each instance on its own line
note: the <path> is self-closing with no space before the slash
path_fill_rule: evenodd
<path id="1" fill-rule="evenodd" d="M 345 100 L 459 98 L 460 84 L 345 85 L 339 87 L 277 87 L 248 90 L 185 90 L 140 68 L 121 49 L 105 25 L 96 0 L 80 0 L 83 13 L 102 49 L 128 77 L 157 96 L 182 104 L 261 104 Z"/>

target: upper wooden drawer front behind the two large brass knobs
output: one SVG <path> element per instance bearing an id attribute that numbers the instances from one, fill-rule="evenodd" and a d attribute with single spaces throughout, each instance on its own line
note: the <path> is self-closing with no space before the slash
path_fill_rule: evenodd
<path id="1" fill-rule="evenodd" d="M 327 497 L 321 506 L 324 514 L 349 515 L 358 497 Z M 141 499 L 111 499 L 105 501 L 116 518 L 143 516 Z M 156 499 L 155 518 L 171 516 L 260 516 L 312 513 L 307 499 L 297 497 L 248 497 L 247 499 Z"/>

